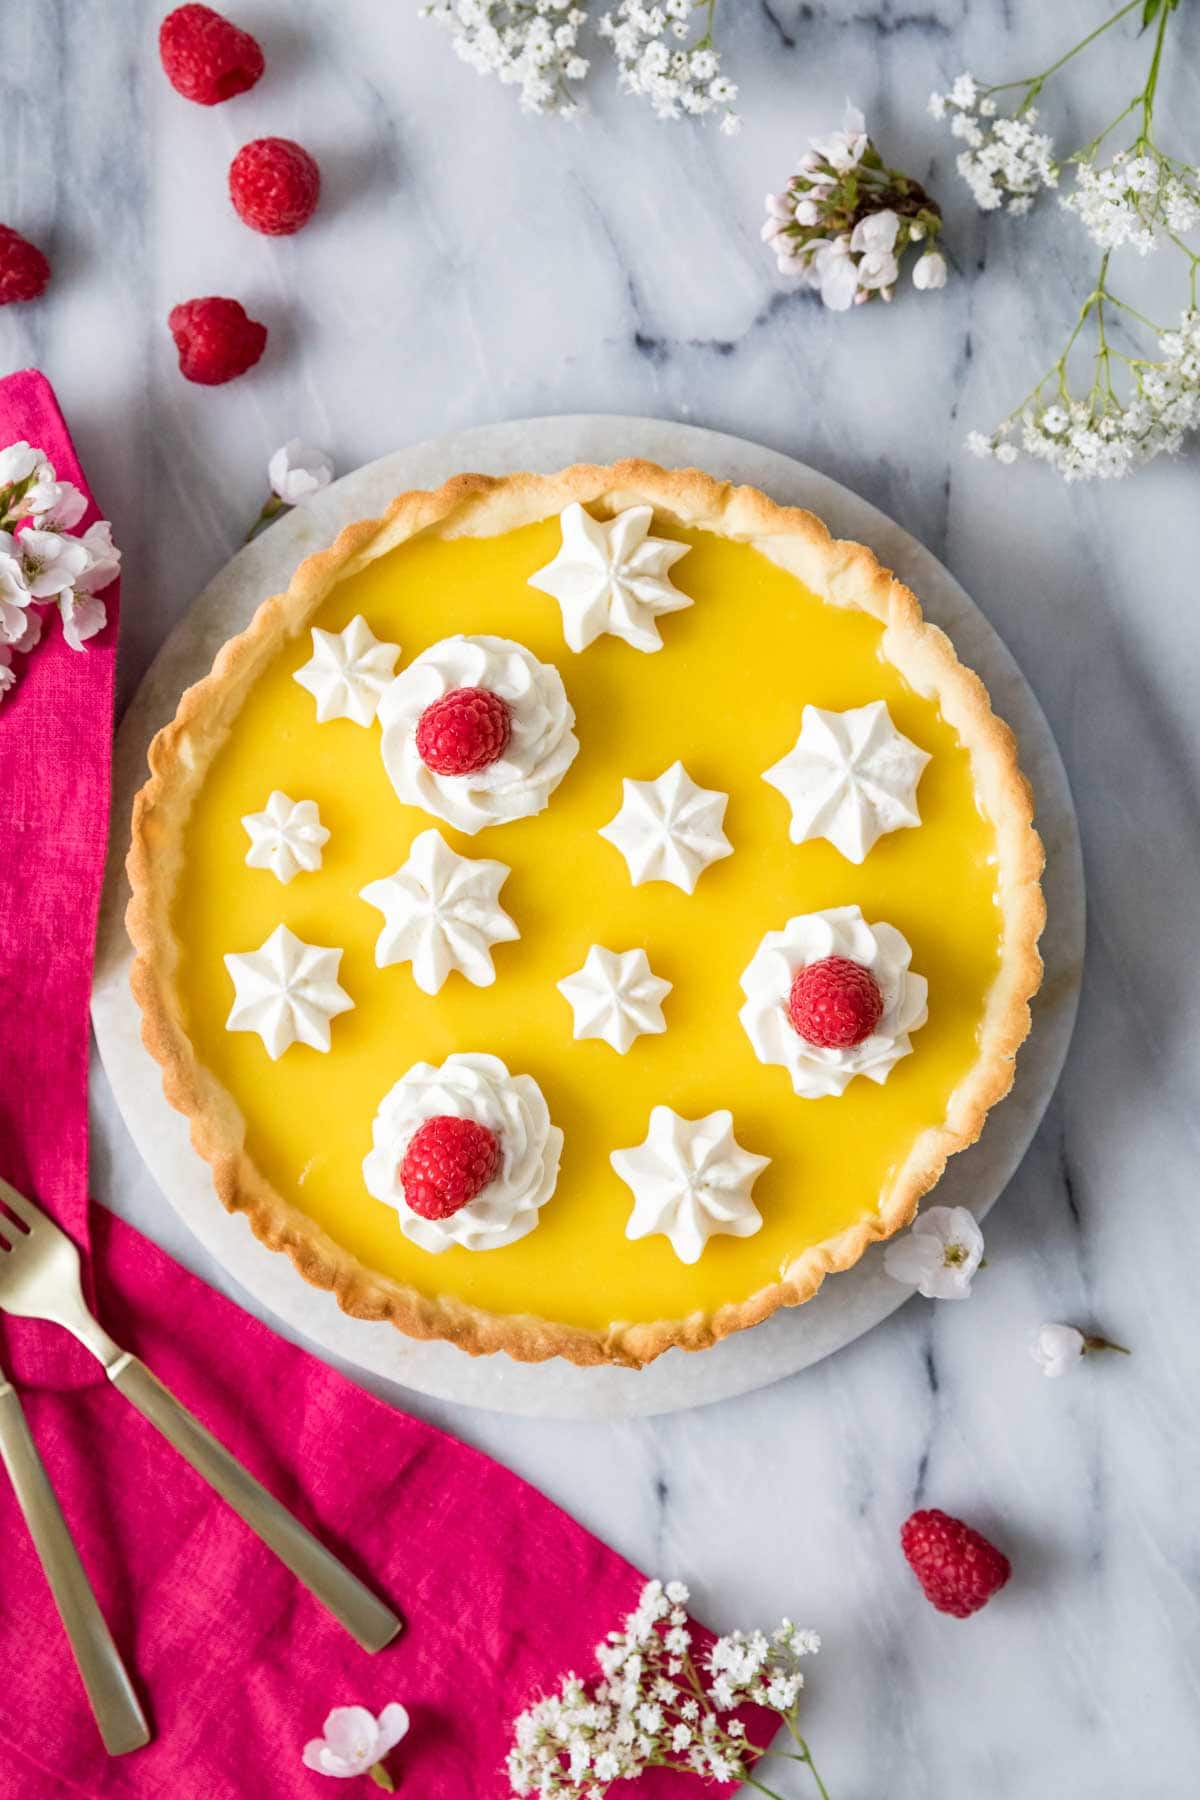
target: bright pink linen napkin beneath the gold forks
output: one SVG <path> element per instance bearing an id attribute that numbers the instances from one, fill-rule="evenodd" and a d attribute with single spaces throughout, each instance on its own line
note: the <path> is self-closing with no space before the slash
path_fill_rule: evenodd
<path id="1" fill-rule="evenodd" d="M 18 437 L 83 486 L 34 373 L 0 382 L 0 445 Z M 88 652 L 49 630 L 0 706 L 0 1172 L 88 1249 L 113 1336 L 407 1627 L 378 1656 L 360 1651 L 63 1334 L 14 1321 L 4 1357 L 155 1741 L 104 1755 L 0 1476 L 0 1800 L 335 1800 L 340 1789 L 302 1768 L 304 1742 L 333 1706 L 390 1701 L 412 1715 L 389 1759 L 403 1795 L 502 1800 L 513 1717 L 565 1670 L 594 1672 L 592 1647 L 633 1604 L 639 1573 L 498 1463 L 275 1337 L 122 1220 L 103 1208 L 88 1219 L 117 590 L 104 599 L 110 625 Z M 765 1742 L 770 1715 L 747 1723 Z M 354 1791 L 376 1789 L 362 1777 Z M 700 1784 L 651 1771 L 617 1793 L 685 1800 Z"/>

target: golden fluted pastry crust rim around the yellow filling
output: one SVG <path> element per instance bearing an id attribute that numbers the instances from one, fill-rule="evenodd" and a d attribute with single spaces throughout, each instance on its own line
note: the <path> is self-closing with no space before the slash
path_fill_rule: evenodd
<path id="1" fill-rule="evenodd" d="M 184 1030 L 171 929 L 193 796 L 250 684 L 282 643 L 306 630 L 331 587 L 417 533 L 497 536 L 560 513 L 572 500 L 601 517 L 651 504 L 682 526 L 752 544 L 829 605 L 856 607 L 880 619 L 887 659 L 912 688 L 936 698 L 970 752 L 975 788 L 997 833 L 1002 914 L 1000 967 L 981 1026 L 979 1058 L 954 1091 L 945 1123 L 916 1139 L 880 1195 L 878 1217 L 811 1246 L 781 1282 L 748 1300 L 682 1319 L 613 1321 L 603 1332 L 421 1294 L 360 1264 L 277 1193 L 245 1150 L 237 1103 L 198 1062 Z M 286 1251 L 308 1282 L 331 1289 L 353 1318 L 387 1319 L 410 1337 L 448 1339 L 471 1355 L 506 1350 L 529 1363 L 561 1355 L 578 1364 L 642 1366 L 671 1346 L 703 1350 L 779 1307 L 810 1300 L 826 1274 L 849 1269 L 869 1244 L 909 1224 L 946 1159 L 979 1138 L 988 1109 L 1013 1084 L 1015 1055 L 1029 1031 L 1029 1001 L 1042 981 L 1036 945 L 1045 922 L 1042 842 L 1013 733 L 995 716 L 988 689 L 959 662 L 948 637 L 921 617 L 916 598 L 869 549 L 835 540 L 811 513 L 775 506 L 754 488 L 734 488 L 698 470 L 626 461 L 608 468 L 578 464 L 556 475 L 455 475 L 434 493 L 401 493 L 381 518 L 347 526 L 327 551 L 300 563 L 284 594 L 259 607 L 246 630 L 223 646 L 210 673 L 182 697 L 175 718 L 149 747 L 149 770 L 133 806 L 126 914 L 137 952 L 131 981 L 142 1008 L 142 1039 L 162 1066 L 167 1100 L 191 1121 L 193 1145 L 210 1165 L 221 1202 L 245 1213 L 264 1244 Z"/>

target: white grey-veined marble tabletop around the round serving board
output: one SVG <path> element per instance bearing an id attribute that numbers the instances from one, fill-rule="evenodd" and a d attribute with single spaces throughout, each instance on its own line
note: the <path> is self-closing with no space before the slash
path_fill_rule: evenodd
<path id="1" fill-rule="evenodd" d="M 963 580 L 1056 727 L 1092 918 L 1067 1073 L 993 1215 L 975 1298 L 914 1301 L 783 1386 L 667 1418 L 414 1404 L 691 1579 L 711 1618 L 819 1627 L 808 1721 L 835 1800 L 1186 1800 L 1200 1768 L 1196 473 L 1065 490 L 963 459 L 963 432 L 1056 351 L 1088 252 L 1054 211 L 979 221 L 923 115 L 961 67 L 1042 67 L 1106 5 L 721 9 L 747 113 L 732 144 L 657 126 L 606 81 L 578 128 L 522 121 L 408 0 L 237 0 L 270 67 L 218 112 L 164 85 L 157 7 L 9 0 L 0 216 L 47 243 L 58 279 L 38 308 L 0 313 L 0 367 L 52 376 L 117 524 L 126 693 L 297 432 L 349 468 L 506 416 L 687 418 L 828 470 Z M 1187 14 L 1159 117 L 1196 155 Z M 1115 113 L 1132 56 L 1114 38 L 1088 58 L 1052 122 L 1085 135 Z M 963 275 L 941 297 L 833 319 L 763 256 L 761 194 L 844 92 L 946 202 Z M 223 198 L 228 157 L 264 131 L 304 139 L 327 176 L 320 218 L 275 245 Z M 218 391 L 176 376 L 164 326 L 205 292 L 272 328 L 263 367 Z M 94 1161 L 101 1197 L 198 1260 L 99 1080 Z M 1045 1382 L 1025 1355 L 1045 1318 L 1099 1325 L 1135 1355 Z M 898 1559 L 918 1501 L 970 1514 L 1013 1555 L 1011 1588 L 973 1622 L 930 1613 Z"/>

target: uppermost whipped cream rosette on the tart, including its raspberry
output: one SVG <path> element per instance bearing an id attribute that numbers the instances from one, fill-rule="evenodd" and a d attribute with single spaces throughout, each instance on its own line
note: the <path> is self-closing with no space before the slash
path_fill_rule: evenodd
<path id="1" fill-rule="evenodd" d="M 459 832 L 531 819 L 579 751 L 563 679 L 509 637 L 443 637 L 380 702 L 401 801 Z"/>

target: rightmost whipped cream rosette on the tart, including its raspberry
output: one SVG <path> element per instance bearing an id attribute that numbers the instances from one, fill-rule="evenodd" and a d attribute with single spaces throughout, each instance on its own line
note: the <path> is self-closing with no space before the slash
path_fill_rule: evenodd
<path id="1" fill-rule="evenodd" d="M 928 1017 L 928 983 L 910 961 L 907 938 L 856 905 L 768 931 L 741 976 L 754 1055 L 781 1064 L 804 1100 L 842 1094 L 856 1075 L 883 1084 Z"/>

